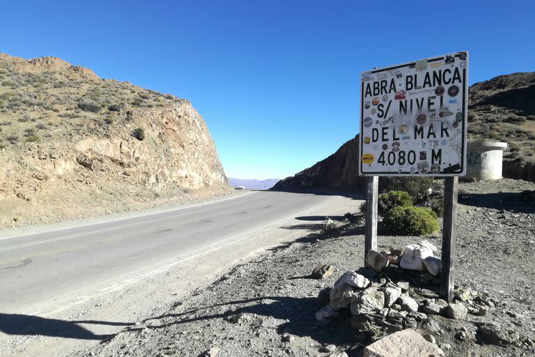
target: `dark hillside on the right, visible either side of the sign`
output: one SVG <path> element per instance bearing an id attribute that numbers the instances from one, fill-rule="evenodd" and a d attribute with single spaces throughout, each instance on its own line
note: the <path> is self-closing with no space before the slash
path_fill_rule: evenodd
<path id="1" fill-rule="evenodd" d="M 468 91 L 468 139 L 495 139 L 509 144 L 504 176 L 535 181 L 535 73 L 502 75 Z M 358 190 L 359 136 L 336 153 L 279 181 L 274 190 Z"/>

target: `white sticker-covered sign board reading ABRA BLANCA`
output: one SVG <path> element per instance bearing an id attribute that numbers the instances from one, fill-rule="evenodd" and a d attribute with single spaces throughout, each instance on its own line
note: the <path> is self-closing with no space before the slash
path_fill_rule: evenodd
<path id="1" fill-rule="evenodd" d="M 362 176 L 464 176 L 468 53 L 362 73 Z"/>

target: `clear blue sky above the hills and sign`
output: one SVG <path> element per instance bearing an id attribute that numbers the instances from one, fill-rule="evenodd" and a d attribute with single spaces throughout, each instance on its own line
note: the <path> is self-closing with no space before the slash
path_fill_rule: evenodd
<path id="1" fill-rule="evenodd" d="M 495 5 L 496 3 L 496 5 Z M 359 132 L 360 73 L 458 50 L 533 71 L 534 1 L 11 1 L 0 52 L 188 99 L 228 176 L 283 178 Z"/>

